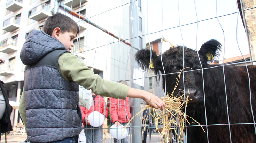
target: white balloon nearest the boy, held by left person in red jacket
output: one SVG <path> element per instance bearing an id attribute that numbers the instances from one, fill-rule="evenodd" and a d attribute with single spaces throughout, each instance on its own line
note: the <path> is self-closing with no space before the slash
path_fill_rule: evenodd
<path id="1" fill-rule="evenodd" d="M 104 123 L 104 115 L 102 115 L 98 111 L 93 111 L 92 113 L 89 114 L 88 120 L 91 126 L 99 127 Z"/>

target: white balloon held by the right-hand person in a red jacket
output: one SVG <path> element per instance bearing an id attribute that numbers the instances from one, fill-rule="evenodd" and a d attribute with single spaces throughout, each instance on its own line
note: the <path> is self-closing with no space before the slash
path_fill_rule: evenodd
<path id="1" fill-rule="evenodd" d="M 113 136 L 116 139 L 123 139 L 123 138 L 128 136 L 127 129 L 125 129 L 124 134 L 122 135 L 123 131 L 124 131 L 124 126 L 123 125 L 121 125 L 121 127 L 119 126 L 117 128 L 117 126 L 114 124 L 109 129 L 110 135 Z"/>

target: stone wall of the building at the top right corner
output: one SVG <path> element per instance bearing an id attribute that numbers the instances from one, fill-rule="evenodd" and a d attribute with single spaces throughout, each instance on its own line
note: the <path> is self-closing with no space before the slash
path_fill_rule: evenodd
<path id="1" fill-rule="evenodd" d="M 245 15 L 246 28 L 249 38 L 251 60 L 256 60 L 256 0 L 241 0 L 241 5 Z M 246 10 L 253 8 L 250 10 Z M 253 63 L 255 65 L 255 62 Z"/>

